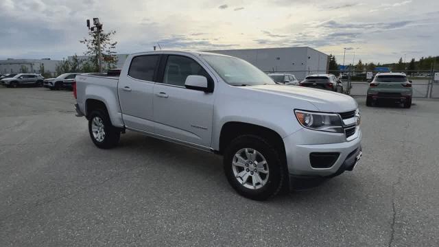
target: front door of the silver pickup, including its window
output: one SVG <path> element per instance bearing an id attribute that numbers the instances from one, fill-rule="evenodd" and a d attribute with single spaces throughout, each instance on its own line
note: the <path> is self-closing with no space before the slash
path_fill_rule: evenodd
<path id="1" fill-rule="evenodd" d="M 156 134 L 201 148 L 211 146 L 213 93 L 185 87 L 188 75 L 213 77 L 194 58 L 163 55 L 159 82 L 154 86 Z"/>

